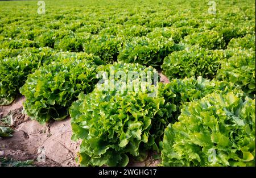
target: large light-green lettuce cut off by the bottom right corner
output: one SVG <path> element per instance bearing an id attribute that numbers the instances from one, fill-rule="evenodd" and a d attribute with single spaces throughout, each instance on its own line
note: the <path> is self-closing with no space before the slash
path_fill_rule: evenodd
<path id="1" fill-rule="evenodd" d="M 164 166 L 255 166 L 255 99 L 233 92 L 190 102 L 164 131 Z"/>

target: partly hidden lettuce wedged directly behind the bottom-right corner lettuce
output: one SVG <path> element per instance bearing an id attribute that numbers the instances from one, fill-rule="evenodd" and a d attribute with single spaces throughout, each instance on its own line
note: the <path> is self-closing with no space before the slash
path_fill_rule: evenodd
<path id="1" fill-rule="evenodd" d="M 176 106 L 176 111 L 172 113 L 176 121 L 180 115 L 180 110 L 189 102 L 200 100 L 210 93 L 228 93 L 236 92 L 243 94 L 242 90 L 232 82 L 207 80 L 201 76 L 195 78 L 172 79 L 170 83 L 164 85 L 164 99 Z M 175 97 L 169 98 L 169 93 L 175 94 Z"/>

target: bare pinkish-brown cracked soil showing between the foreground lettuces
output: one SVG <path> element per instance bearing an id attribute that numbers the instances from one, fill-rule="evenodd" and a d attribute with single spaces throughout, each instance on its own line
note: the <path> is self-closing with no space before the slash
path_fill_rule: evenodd
<path id="1" fill-rule="evenodd" d="M 169 82 L 159 73 L 161 82 Z M 46 125 L 31 120 L 22 113 L 24 96 L 9 106 L 0 106 L 0 119 L 8 117 L 15 130 L 11 137 L 0 137 L 0 157 L 14 160 L 34 160 L 36 166 L 79 166 L 76 162 L 80 142 L 71 140 L 70 118 Z M 148 156 L 144 162 L 131 161 L 128 166 L 157 166 L 160 160 Z"/>

